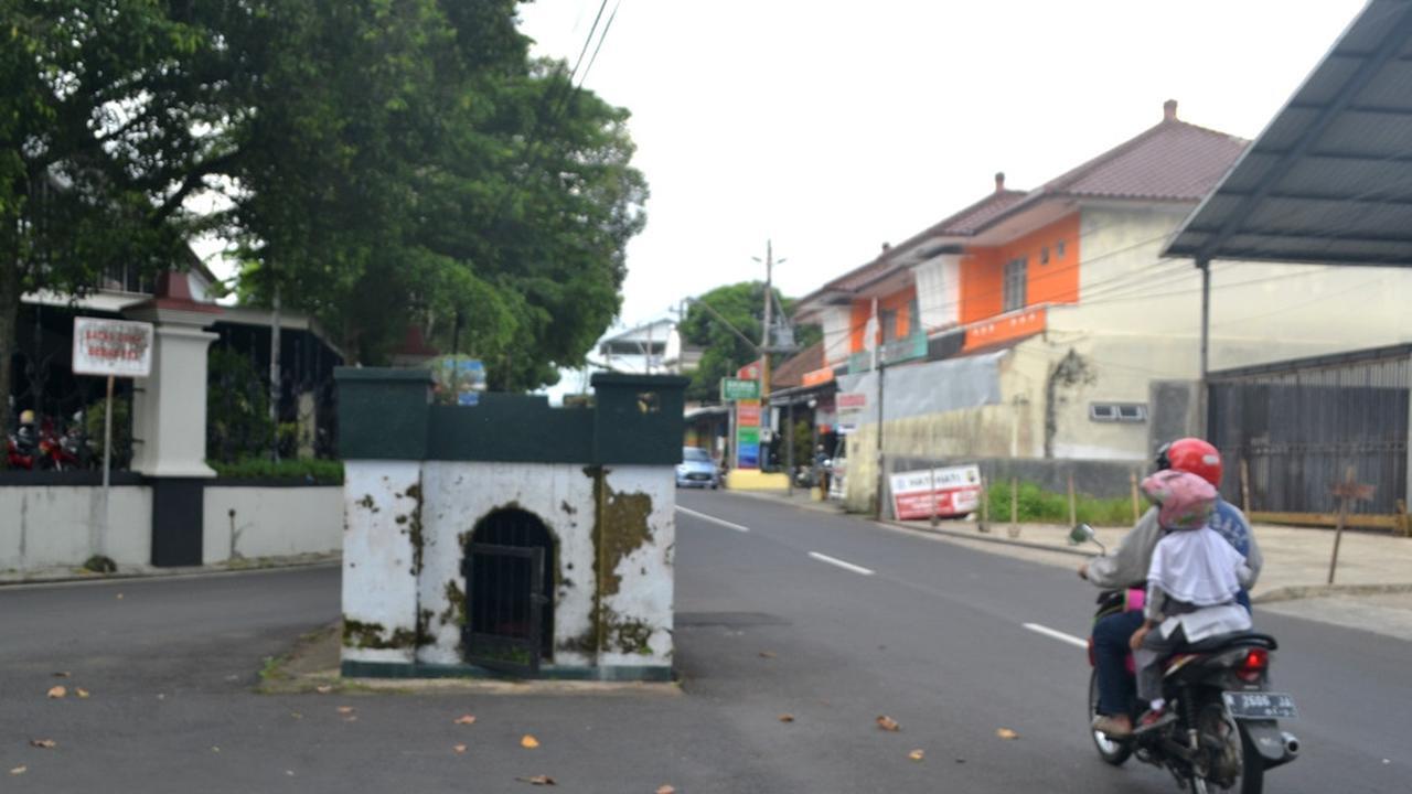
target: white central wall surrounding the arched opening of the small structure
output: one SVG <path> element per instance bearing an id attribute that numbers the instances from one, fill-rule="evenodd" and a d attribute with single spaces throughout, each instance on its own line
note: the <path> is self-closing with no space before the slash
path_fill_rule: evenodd
<path id="1" fill-rule="evenodd" d="M 460 562 L 476 521 L 501 507 L 534 513 L 555 540 L 554 661 L 558 665 L 593 664 L 592 656 L 573 650 L 575 640 L 593 626 L 594 548 L 593 479 L 582 465 L 426 462 L 422 506 L 421 610 L 431 610 L 426 626 L 432 643 L 418 658 L 432 664 L 465 661 L 460 647 L 466 576 Z M 668 472 L 669 469 L 662 469 Z"/>

